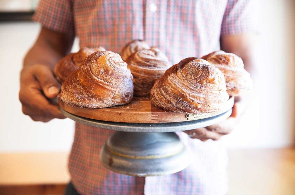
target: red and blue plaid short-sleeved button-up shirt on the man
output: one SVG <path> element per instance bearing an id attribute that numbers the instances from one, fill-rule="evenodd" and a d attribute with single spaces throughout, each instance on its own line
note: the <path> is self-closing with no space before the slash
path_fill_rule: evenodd
<path id="1" fill-rule="evenodd" d="M 253 30 L 250 0 L 41 0 L 33 16 L 42 26 L 75 32 L 80 47 L 120 52 L 144 39 L 173 64 L 219 50 L 220 36 Z M 81 194 L 226 194 L 226 151 L 221 141 L 190 139 L 191 165 L 175 174 L 132 177 L 105 169 L 100 148 L 112 131 L 76 124 L 69 158 L 72 182 Z"/>

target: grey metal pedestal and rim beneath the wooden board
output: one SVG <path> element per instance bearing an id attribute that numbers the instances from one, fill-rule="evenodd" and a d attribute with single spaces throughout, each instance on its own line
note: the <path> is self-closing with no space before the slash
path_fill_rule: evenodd
<path id="1" fill-rule="evenodd" d="M 175 123 L 120 123 L 80 117 L 61 109 L 79 123 L 116 130 L 105 143 L 100 161 L 108 169 L 133 176 L 172 174 L 189 164 L 188 151 L 175 131 L 206 127 L 230 116 L 232 109 L 220 115 Z"/>

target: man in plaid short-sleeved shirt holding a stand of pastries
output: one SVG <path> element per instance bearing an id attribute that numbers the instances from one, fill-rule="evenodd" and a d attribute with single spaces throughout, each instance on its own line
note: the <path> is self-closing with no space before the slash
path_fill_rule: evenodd
<path id="1" fill-rule="evenodd" d="M 242 57 L 251 71 L 251 6 L 250 0 L 41 0 L 33 19 L 42 29 L 21 72 L 22 111 L 35 121 L 65 118 L 50 101 L 60 90 L 53 68 L 69 53 L 75 36 L 80 47 L 102 46 L 117 53 L 128 41 L 144 39 L 173 64 L 221 48 Z M 187 131 L 189 136 L 180 133 L 192 150 L 191 165 L 159 177 L 132 177 L 105 169 L 99 153 L 112 131 L 77 123 L 69 158 L 72 183 L 66 194 L 226 194 L 226 151 L 212 140 L 233 130 L 240 117 L 238 105 L 219 124 Z"/>

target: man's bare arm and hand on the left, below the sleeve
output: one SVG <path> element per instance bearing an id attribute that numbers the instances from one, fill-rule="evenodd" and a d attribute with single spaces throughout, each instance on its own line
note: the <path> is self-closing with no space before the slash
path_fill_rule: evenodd
<path id="1" fill-rule="evenodd" d="M 54 78 L 55 64 L 72 48 L 75 36 L 42 28 L 27 53 L 20 78 L 19 100 L 22 112 L 35 121 L 48 122 L 65 118 L 58 105 L 50 99 L 57 97 L 60 84 Z"/>

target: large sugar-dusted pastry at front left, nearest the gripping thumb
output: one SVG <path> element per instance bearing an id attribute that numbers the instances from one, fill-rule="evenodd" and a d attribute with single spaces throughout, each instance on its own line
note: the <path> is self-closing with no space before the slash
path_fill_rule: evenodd
<path id="1" fill-rule="evenodd" d="M 95 52 L 62 83 L 61 100 L 81 108 L 127 104 L 133 97 L 132 78 L 119 54 Z"/>

